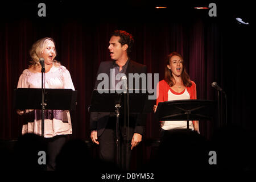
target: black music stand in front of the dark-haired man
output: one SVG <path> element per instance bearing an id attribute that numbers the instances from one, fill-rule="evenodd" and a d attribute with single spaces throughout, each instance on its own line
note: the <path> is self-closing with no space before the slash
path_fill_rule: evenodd
<path id="1" fill-rule="evenodd" d="M 92 92 L 92 101 L 89 107 L 90 112 L 107 112 L 115 113 L 116 118 L 116 163 L 119 165 L 120 156 L 119 156 L 119 115 L 124 114 L 138 114 L 143 113 L 145 109 L 145 101 L 148 97 L 146 90 L 131 90 L 128 89 L 128 94 L 123 92 L 123 90 L 97 90 L 94 89 Z M 136 91 L 136 92 L 135 92 Z M 125 101 L 125 98 L 128 98 L 128 102 Z M 125 111 L 125 103 L 127 103 L 127 110 Z M 152 109 L 151 109 L 152 111 Z M 124 121 L 126 122 L 126 121 Z M 126 127 L 126 123 L 124 125 Z M 129 125 L 128 125 L 129 128 Z M 128 131 L 129 133 L 129 131 Z M 128 137 L 129 138 L 129 137 Z M 128 145 L 127 145 L 128 146 Z M 128 149 L 127 149 L 128 150 Z M 127 155 L 126 155 L 127 156 Z M 127 158 L 126 158 L 126 164 Z M 127 168 L 127 166 L 126 166 Z"/>

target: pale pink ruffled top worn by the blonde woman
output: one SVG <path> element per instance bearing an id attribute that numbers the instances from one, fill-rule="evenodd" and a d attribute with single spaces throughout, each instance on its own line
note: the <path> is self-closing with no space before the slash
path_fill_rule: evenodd
<path id="1" fill-rule="evenodd" d="M 64 66 L 52 68 L 45 74 L 45 88 L 75 90 L 69 71 Z M 17 88 L 41 88 L 42 73 L 32 73 L 25 69 L 19 77 Z M 41 135 L 41 110 L 26 114 L 27 122 L 23 124 L 22 134 L 35 133 Z M 72 134 L 69 110 L 45 110 L 44 137 Z"/>

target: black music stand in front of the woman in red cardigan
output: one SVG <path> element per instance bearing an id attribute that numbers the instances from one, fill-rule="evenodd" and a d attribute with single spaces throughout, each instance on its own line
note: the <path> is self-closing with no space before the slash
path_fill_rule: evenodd
<path id="1" fill-rule="evenodd" d="M 214 101 L 208 100 L 177 100 L 159 102 L 156 117 L 159 121 L 211 120 L 214 115 Z"/>

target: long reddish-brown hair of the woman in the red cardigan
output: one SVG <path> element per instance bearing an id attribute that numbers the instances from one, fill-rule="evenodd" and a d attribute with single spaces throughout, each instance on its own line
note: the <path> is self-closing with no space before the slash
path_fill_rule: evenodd
<path id="1" fill-rule="evenodd" d="M 183 71 L 181 73 L 181 80 L 183 81 L 184 86 L 191 87 L 192 83 L 191 83 L 190 77 L 185 69 L 183 57 L 177 52 L 171 52 L 170 55 L 167 56 L 166 65 L 164 67 L 164 80 L 170 86 L 175 85 L 175 78 L 174 78 L 174 76 L 172 76 L 172 71 L 171 71 L 171 69 L 168 69 L 168 67 L 167 67 L 167 65 L 170 64 L 170 60 L 171 60 L 172 56 L 179 56 L 180 59 L 182 60 Z"/>

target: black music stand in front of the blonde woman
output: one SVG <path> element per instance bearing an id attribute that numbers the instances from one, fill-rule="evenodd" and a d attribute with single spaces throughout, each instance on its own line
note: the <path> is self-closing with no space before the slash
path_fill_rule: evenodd
<path id="1" fill-rule="evenodd" d="M 76 110 L 77 91 L 72 89 L 45 89 L 46 110 Z M 42 89 L 19 88 L 14 90 L 14 109 L 42 109 Z M 44 131 L 42 128 L 42 137 Z"/>

